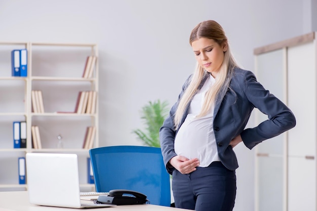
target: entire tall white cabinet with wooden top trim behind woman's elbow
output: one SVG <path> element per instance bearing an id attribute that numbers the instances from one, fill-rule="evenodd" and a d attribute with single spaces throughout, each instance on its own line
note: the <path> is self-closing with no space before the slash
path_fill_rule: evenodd
<path id="1" fill-rule="evenodd" d="M 315 32 L 254 50 L 258 81 L 297 121 L 256 147 L 256 210 L 317 210 L 316 51 Z M 263 116 L 257 112 L 256 122 Z"/>

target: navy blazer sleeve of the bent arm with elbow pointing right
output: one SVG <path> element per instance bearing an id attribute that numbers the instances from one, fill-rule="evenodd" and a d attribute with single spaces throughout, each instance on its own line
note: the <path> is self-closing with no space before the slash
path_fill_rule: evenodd
<path id="1" fill-rule="evenodd" d="M 241 138 L 249 149 L 263 140 L 290 130 L 296 125 L 292 111 L 281 100 L 265 90 L 251 71 L 247 71 L 245 75 L 243 89 L 249 102 L 268 117 L 255 128 L 246 129 L 241 133 Z"/>

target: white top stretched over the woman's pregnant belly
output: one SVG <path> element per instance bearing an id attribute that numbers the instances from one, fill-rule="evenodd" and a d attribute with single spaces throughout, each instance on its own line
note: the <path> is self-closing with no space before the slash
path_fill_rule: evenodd
<path id="1" fill-rule="evenodd" d="M 186 119 L 179 129 L 174 143 L 177 155 L 188 159 L 198 158 L 200 167 L 207 167 L 213 161 L 220 160 L 213 130 L 214 106 L 207 115 L 196 117 L 202 109 L 206 92 L 214 82 L 215 78 L 208 77 L 202 89 L 193 97 Z"/>

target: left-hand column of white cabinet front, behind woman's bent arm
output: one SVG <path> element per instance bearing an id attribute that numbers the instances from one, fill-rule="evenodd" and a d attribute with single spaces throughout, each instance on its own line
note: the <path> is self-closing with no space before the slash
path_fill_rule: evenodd
<path id="1" fill-rule="evenodd" d="M 256 56 L 256 77 L 263 87 L 286 103 L 286 51 L 276 50 Z M 256 123 L 267 119 L 257 109 Z M 256 146 L 256 210 L 283 210 L 285 195 L 286 134 Z"/>

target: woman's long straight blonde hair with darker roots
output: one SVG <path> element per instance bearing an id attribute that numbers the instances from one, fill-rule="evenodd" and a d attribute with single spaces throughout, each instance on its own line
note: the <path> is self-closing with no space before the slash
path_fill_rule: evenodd
<path id="1" fill-rule="evenodd" d="M 224 52 L 224 59 L 221 64 L 219 73 L 215 78 L 215 83 L 207 91 L 201 113 L 197 117 L 206 115 L 211 106 L 215 104 L 216 100 L 220 100 L 224 97 L 227 89 L 229 89 L 229 83 L 231 80 L 233 68 L 238 66 L 234 60 L 233 55 L 231 54 L 228 39 L 224 33 L 224 30 L 216 21 L 208 20 L 196 25 L 196 27 L 190 33 L 189 44 L 191 45 L 193 41 L 202 37 L 213 39 L 220 46 L 226 44 L 227 51 Z M 202 79 L 206 76 L 206 74 L 209 73 L 207 73 L 204 70 L 204 68 L 200 66 L 197 62 L 196 68 L 191 77 L 191 81 L 187 89 L 185 90 L 183 96 L 181 97 L 175 112 L 175 129 L 179 128 L 187 105 L 192 99 L 192 97 L 196 94 L 198 87 L 201 84 Z"/>

